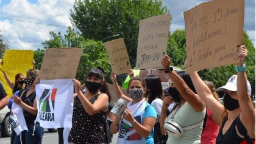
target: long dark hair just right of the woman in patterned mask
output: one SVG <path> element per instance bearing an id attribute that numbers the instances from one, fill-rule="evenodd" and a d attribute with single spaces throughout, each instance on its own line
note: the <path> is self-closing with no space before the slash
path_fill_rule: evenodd
<path id="1" fill-rule="evenodd" d="M 148 97 L 148 103 L 151 104 L 155 98 L 162 99 L 163 87 L 159 77 L 155 75 L 148 75 L 148 77 L 143 78 L 146 84 L 146 97 Z"/>

